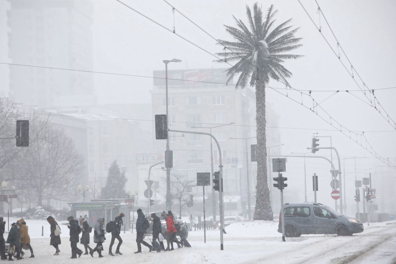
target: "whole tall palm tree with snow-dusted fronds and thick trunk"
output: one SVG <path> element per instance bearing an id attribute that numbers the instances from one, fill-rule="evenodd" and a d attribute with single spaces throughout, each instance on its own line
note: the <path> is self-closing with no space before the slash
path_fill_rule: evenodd
<path id="1" fill-rule="evenodd" d="M 224 46 L 216 62 L 235 62 L 234 66 L 227 70 L 227 80 L 230 82 L 239 75 L 236 88 L 245 88 L 247 84 L 255 86 L 256 94 L 256 125 L 257 125 L 257 186 L 256 207 L 254 220 L 272 220 L 273 214 L 270 204 L 270 196 L 267 183 L 267 151 L 265 137 L 265 86 L 270 78 L 280 81 L 287 86 L 287 78 L 292 73 L 283 65 L 284 59 L 297 59 L 302 55 L 285 54 L 302 46 L 299 44 L 302 38 L 295 38 L 294 34 L 299 28 L 292 29 L 288 26 L 291 19 L 274 27 L 274 16 L 278 10 L 273 11 L 274 5 L 268 8 L 267 15 L 257 3 L 253 5 L 253 17 L 251 10 L 246 6 L 247 19 L 250 30 L 240 19 L 234 19 L 238 27 L 225 26 L 226 31 L 234 38 L 234 42 L 217 40 L 217 44 Z M 250 82 L 249 82 L 250 80 Z"/>

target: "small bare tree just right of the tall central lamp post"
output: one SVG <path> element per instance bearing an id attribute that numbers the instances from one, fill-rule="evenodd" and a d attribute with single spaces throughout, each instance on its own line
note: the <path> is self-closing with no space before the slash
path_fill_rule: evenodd
<path id="1" fill-rule="evenodd" d="M 166 178 L 162 178 L 162 181 L 165 184 L 162 186 L 166 186 Z M 177 200 L 179 204 L 179 216 L 181 216 L 181 210 L 183 206 L 188 203 L 188 195 L 187 195 L 187 186 L 196 186 L 194 180 L 186 180 L 186 176 L 184 174 L 172 174 L 171 175 L 171 196 L 172 201 Z M 164 190 L 166 192 L 166 190 Z"/>

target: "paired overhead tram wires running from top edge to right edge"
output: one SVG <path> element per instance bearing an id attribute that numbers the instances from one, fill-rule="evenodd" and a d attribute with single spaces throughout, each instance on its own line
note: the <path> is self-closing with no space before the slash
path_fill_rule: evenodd
<path id="1" fill-rule="evenodd" d="M 312 23 L 314 24 L 314 26 L 316 27 L 316 29 L 318 29 L 319 33 L 322 35 L 322 37 L 323 37 L 324 40 L 326 41 L 327 45 L 330 47 L 330 49 L 333 51 L 333 53 L 334 53 L 334 54 L 336 55 L 336 57 L 339 59 L 339 61 L 341 62 L 341 64 L 344 66 L 345 70 L 348 72 L 348 74 L 350 75 L 350 77 L 352 77 L 352 79 L 354 80 L 354 82 L 356 83 L 356 85 L 359 87 L 359 89 L 363 92 L 364 96 L 365 96 L 365 97 L 367 98 L 367 100 L 370 102 L 369 105 L 371 105 L 371 107 L 374 107 L 375 110 L 377 110 L 377 112 L 383 117 L 383 119 L 385 119 L 385 121 L 388 122 L 388 123 L 392 126 L 392 128 L 394 128 L 394 129 L 396 130 L 396 122 L 389 116 L 389 114 L 386 112 L 386 110 L 384 109 L 384 107 L 381 105 L 381 103 L 380 103 L 380 102 L 378 101 L 378 99 L 376 98 L 376 96 L 375 96 L 375 94 L 374 94 L 374 91 L 373 91 L 373 90 L 370 90 L 370 89 L 367 87 L 366 83 L 363 81 L 363 79 L 360 77 L 359 73 L 358 73 L 358 72 L 356 71 L 356 69 L 353 67 L 351 61 L 349 60 L 349 58 L 348 58 L 348 56 L 346 55 L 345 51 L 343 50 L 341 44 L 339 43 L 337 37 L 335 36 L 335 34 L 334 34 L 334 32 L 333 32 L 333 29 L 331 29 L 331 26 L 329 25 L 329 23 L 328 23 L 328 21 L 327 21 L 325 15 L 324 15 L 322 9 L 320 8 L 318 2 L 315 0 L 316 5 L 318 6 L 318 11 L 320 11 L 320 13 L 323 15 L 323 17 L 324 17 L 324 19 L 325 19 L 325 21 L 326 21 L 326 23 L 327 23 L 327 26 L 329 27 L 331 33 L 333 34 L 333 37 L 334 37 L 335 40 L 337 41 L 337 46 L 339 46 L 339 47 L 341 48 L 341 51 L 343 52 L 343 54 L 345 55 L 346 59 L 348 60 L 348 63 L 349 63 L 349 65 L 350 65 L 350 67 L 351 67 L 351 72 L 352 72 L 352 73 L 349 72 L 349 70 L 346 68 L 345 64 L 343 63 L 343 61 L 341 61 L 340 55 L 337 55 L 337 53 L 335 52 L 335 50 L 333 49 L 333 47 L 331 47 L 330 43 L 328 42 L 328 40 L 326 39 L 326 37 L 325 37 L 324 34 L 322 33 L 321 29 L 316 25 L 316 23 L 314 22 L 314 20 L 312 19 L 312 17 L 309 15 L 308 11 L 305 9 L 305 7 L 304 7 L 303 4 L 301 3 L 301 1 L 298 0 L 298 2 L 299 2 L 299 4 L 301 5 L 301 7 L 304 9 L 305 13 L 307 13 L 308 17 L 310 18 L 310 20 L 312 21 Z M 358 84 L 358 82 L 355 80 L 354 75 L 353 75 L 353 72 L 355 72 L 356 75 L 360 78 L 360 80 L 361 80 L 362 83 L 363 83 L 363 86 L 367 88 L 367 92 L 369 92 L 370 95 L 371 95 L 371 94 L 373 95 L 373 97 L 374 97 L 374 99 L 373 99 L 374 103 L 371 101 L 371 99 L 369 99 L 369 98 L 367 97 L 366 91 L 365 91 L 365 90 L 362 90 L 362 88 L 360 87 L 360 85 Z M 375 101 L 377 101 L 378 107 L 377 107 L 377 105 L 375 104 Z M 385 115 L 383 115 L 383 114 L 381 113 L 381 109 L 379 109 L 379 107 L 381 107 L 382 110 L 386 113 L 386 117 L 385 117 Z M 390 121 L 393 122 L 393 125 L 391 124 Z"/>

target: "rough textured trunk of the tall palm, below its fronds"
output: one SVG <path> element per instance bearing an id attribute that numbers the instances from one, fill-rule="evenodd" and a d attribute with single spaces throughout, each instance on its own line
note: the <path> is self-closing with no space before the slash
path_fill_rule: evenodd
<path id="1" fill-rule="evenodd" d="M 262 71 L 261 71 L 262 72 Z M 270 192 L 267 179 L 267 139 L 265 133 L 265 81 L 259 73 L 256 84 L 256 126 L 257 126 L 257 186 L 254 220 L 273 220 Z"/>

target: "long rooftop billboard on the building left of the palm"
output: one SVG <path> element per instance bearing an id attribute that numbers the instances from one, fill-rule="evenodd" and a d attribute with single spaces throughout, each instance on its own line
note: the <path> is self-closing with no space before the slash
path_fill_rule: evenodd
<path id="1" fill-rule="evenodd" d="M 226 70 L 168 70 L 168 87 L 225 86 L 228 79 Z M 153 71 L 153 77 L 154 87 L 165 88 L 165 71 Z"/>

